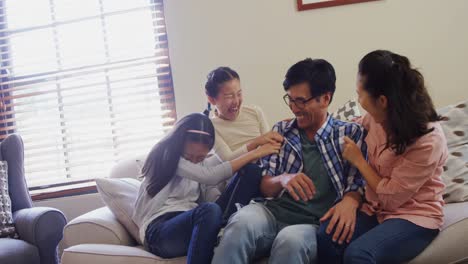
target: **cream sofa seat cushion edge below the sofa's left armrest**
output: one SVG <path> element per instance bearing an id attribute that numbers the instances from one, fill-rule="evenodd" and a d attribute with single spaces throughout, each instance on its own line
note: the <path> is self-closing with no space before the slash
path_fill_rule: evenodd
<path id="1" fill-rule="evenodd" d="M 185 264 L 186 257 L 163 259 L 143 247 L 81 244 L 64 250 L 62 264 Z"/>

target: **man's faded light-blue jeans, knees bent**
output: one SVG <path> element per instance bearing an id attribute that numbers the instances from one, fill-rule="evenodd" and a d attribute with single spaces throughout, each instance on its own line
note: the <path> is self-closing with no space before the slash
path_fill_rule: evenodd
<path id="1" fill-rule="evenodd" d="M 251 263 L 268 255 L 269 263 L 316 263 L 317 228 L 285 225 L 263 204 L 249 204 L 229 219 L 212 263 Z"/>

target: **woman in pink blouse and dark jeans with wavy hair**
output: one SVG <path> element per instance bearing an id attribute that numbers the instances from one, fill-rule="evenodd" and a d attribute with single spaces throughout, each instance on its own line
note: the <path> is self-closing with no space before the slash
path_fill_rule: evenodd
<path id="1" fill-rule="evenodd" d="M 447 142 L 420 72 L 408 58 L 373 51 L 359 63 L 360 123 L 368 131 L 368 162 L 345 139 L 343 158 L 367 182 L 355 221 L 318 233 L 321 263 L 402 263 L 421 253 L 443 222 L 441 179 Z M 342 226 L 342 225 L 337 225 Z"/>

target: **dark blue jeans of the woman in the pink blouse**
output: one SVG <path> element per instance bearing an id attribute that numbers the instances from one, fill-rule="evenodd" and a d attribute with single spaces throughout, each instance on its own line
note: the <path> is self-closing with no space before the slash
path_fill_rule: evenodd
<path id="1" fill-rule="evenodd" d="M 325 232 L 328 223 L 321 224 L 317 234 L 320 263 L 403 263 L 419 255 L 439 233 L 403 219 L 379 224 L 375 216 L 357 212 L 351 243 L 339 245 L 332 240 L 335 230 Z"/>

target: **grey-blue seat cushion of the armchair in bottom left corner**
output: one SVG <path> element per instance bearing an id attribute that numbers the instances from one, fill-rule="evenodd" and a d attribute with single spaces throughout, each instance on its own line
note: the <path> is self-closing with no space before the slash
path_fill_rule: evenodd
<path id="1" fill-rule="evenodd" d="M 0 263 L 39 264 L 39 252 L 23 240 L 0 238 Z"/>

